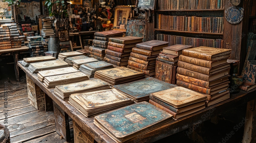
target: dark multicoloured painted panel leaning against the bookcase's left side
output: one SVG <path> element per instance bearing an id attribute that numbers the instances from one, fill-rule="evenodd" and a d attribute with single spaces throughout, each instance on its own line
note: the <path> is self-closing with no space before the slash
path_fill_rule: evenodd
<path id="1" fill-rule="evenodd" d="M 145 19 L 128 19 L 125 36 L 135 36 L 143 38 L 146 41 L 146 20 Z"/>

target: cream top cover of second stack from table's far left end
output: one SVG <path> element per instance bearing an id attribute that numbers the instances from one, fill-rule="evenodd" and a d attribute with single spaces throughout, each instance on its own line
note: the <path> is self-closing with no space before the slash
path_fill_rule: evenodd
<path id="1" fill-rule="evenodd" d="M 68 65 L 68 64 L 61 60 L 52 60 L 52 61 L 45 61 L 45 62 L 30 64 L 30 66 L 33 66 L 35 69 L 50 68 L 50 67 L 65 66 L 65 65 Z"/>

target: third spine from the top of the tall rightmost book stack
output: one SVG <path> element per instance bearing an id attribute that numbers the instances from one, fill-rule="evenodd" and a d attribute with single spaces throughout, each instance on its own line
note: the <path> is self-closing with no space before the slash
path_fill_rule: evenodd
<path id="1" fill-rule="evenodd" d="M 178 61 L 178 66 L 198 73 L 210 75 L 210 68 L 193 65 L 182 61 Z"/>

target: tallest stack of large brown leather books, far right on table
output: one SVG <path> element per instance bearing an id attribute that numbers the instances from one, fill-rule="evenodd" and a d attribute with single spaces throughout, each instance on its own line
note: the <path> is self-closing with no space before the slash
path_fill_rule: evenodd
<path id="1" fill-rule="evenodd" d="M 206 106 L 229 99 L 230 49 L 196 47 L 179 56 L 177 85 L 207 94 Z"/>

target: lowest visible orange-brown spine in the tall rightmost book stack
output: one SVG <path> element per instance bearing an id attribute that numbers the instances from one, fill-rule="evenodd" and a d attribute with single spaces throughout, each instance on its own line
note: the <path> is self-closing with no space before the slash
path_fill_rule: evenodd
<path id="1" fill-rule="evenodd" d="M 211 95 L 209 88 L 200 87 L 200 86 L 193 85 L 193 84 L 190 84 L 188 82 L 181 81 L 181 80 L 177 80 L 177 84 L 176 85 L 177 86 L 181 86 L 181 87 L 185 87 L 185 88 L 188 88 L 188 89 L 200 92 L 200 93 Z"/>

